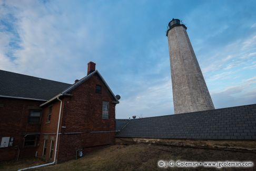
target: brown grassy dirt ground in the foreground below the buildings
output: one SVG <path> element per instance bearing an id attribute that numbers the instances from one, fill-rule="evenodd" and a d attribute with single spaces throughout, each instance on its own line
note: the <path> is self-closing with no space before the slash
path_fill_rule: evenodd
<path id="1" fill-rule="evenodd" d="M 83 158 L 32 170 L 256 170 L 251 168 L 159 168 L 159 160 L 189 161 L 252 161 L 256 164 L 255 153 L 230 152 L 224 150 L 196 149 L 152 144 L 105 146 Z M 40 159 L 24 159 L 18 162 L 2 162 L 0 170 L 17 170 L 42 164 Z"/>

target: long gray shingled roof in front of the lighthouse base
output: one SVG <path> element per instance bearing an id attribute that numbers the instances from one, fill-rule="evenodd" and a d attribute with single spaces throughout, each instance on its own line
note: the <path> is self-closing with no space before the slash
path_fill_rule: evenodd
<path id="1" fill-rule="evenodd" d="M 131 119 L 116 137 L 256 139 L 256 104 Z"/>

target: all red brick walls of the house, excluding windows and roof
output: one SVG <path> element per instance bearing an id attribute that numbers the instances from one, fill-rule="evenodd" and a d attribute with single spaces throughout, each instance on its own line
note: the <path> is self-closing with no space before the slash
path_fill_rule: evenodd
<path id="1" fill-rule="evenodd" d="M 101 94 L 95 93 L 95 87 L 102 86 Z M 76 149 L 83 148 L 84 152 L 92 147 L 111 144 L 114 142 L 114 132 L 91 133 L 97 131 L 115 130 L 115 105 L 113 97 L 96 74 L 86 82 L 76 87 L 72 92 L 73 96 L 64 97 L 62 106 L 62 118 L 58 141 L 57 160 L 64 161 L 74 159 Z M 109 102 L 109 119 L 102 119 L 102 102 Z M 21 157 L 34 156 L 42 157 L 44 139 L 47 138 L 47 150 L 44 159 L 50 160 L 51 138 L 56 143 L 56 132 L 58 116 L 60 112 L 60 101 L 44 106 L 42 110 L 41 125 L 28 124 L 29 106 L 39 106 L 43 102 L 33 100 L 20 100 L 11 98 L 0 98 L 0 137 L 14 137 L 13 147 L 0 148 L 0 160 L 14 159 L 17 150 L 14 146 L 21 148 Z M 52 106 L 51 122 L 47 123 L 48 107 Z M 62 128 L 65 126 L 66 128 Z M 27 133 L 41 132 L 37 147 L 23 148 L 24 135 Z M 66 134 L 77 133 L 82 134 Z M 48 135 L 46 135 L 48 134 Z M 53 153 L 54 156 L 54 153 Z M 53 160 L 53 158 L 52 158 Z"/>

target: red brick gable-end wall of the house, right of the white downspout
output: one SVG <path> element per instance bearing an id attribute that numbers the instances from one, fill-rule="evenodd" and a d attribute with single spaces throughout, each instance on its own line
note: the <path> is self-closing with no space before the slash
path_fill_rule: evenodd
<path id="1" fill-rule="evenodd" d="M 95 86 L 101 85 L 101 94 L 95 93 Z M 113 97 L 104 86 L 100 77 L 92 76 L 86 82 L 76 87 L 72 97 L 63 99 L 60 145 L 58 146 L 57 160 L 59 162 L 75 159 L 76 149 L 86 149 L 93 146 L 106 145 L 114 142 L 114 132 L 90 133 L 97 131 L 115 130 L 115 104 Z M 109 102 L 109 119 L 102 119 L 102 101 Z M 42 127 L 42 130 L 44 128 Z"/>

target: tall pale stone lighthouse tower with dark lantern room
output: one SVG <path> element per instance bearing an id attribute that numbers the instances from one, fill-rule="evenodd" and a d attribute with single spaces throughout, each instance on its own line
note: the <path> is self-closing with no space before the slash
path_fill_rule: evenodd
<path id="1" fill-rule="evenodd" d="M 166 33 L 171 62 L 174 113 L 214 109 L 186 26 L 172 19 Z"/>

